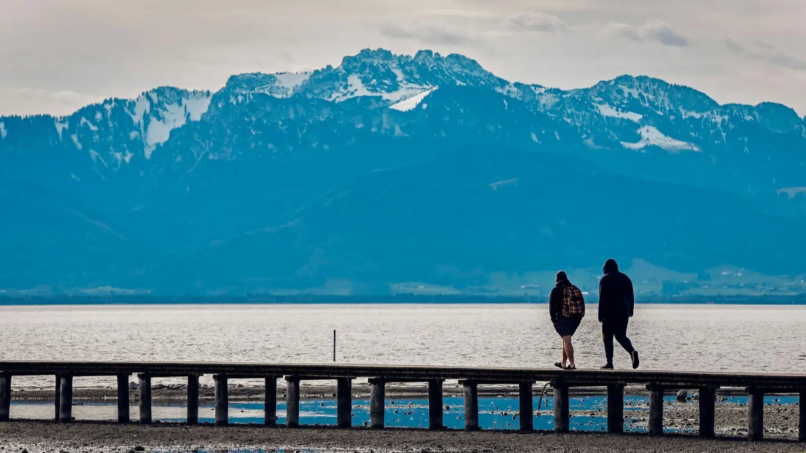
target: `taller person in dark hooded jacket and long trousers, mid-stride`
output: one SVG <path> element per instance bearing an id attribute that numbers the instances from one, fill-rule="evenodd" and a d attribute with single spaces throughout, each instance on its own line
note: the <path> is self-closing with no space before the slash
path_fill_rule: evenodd
<path id="1" fill-rule="evenodd" d="M 599 281 L 599 322 L 602 324 L 607 364 L 602 369 L 613 369 L 613 337 L 629 353 L 633 369 L 638 368 L 638 351 L 627 338 L 627 324 L 635 308 L 633 282 L 619 272 L 616 260 L 607 260 L 603 271 L 605 276 Z"/>

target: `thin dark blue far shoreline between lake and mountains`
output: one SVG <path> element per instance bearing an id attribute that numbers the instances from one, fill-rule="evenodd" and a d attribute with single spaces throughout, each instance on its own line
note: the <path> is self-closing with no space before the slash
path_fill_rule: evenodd
<path id="1" fill-rule="evenodd" d="M 2 296 L 0 306 L 27 305 L 504 305 L 547 303 L 544 296 Z M 595 305 L 595 299 L 589 300 Z M 637 304 L 655 305 L 806 305 L 806 294 L 788 296 L 646 297 Z"/>

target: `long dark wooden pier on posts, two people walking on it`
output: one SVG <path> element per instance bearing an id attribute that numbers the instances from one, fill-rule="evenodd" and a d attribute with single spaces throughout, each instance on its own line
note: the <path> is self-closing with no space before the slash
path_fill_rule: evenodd
<path id="1" fill-rule="evenodd" d="M 806 441 L 806 375 L 725 372 L 610 371 L 534 368 L 470 368 L 390 365 L 337 364 L 229 364 L 183 362 L 0 362 L 0 422 L 10 418 L 11 380 L 15 376 L 56 376 L 56 422 L 72 420 L 73 378 L 78 376 L 117 376 L 118 422 L 130 422 L 129 377 L 139 379 L 139 422 L 152 422 L 152 378 L 185 377 L 188 379 L 188 423 L 198 422 L 198 379 L 214 377 L 215 424 L 226 425 L 229 417 L 228 381 L 262 378 L 266 384 L 265 416 L 267 426 L 276 425 L 276 385 L 285 379 L 286 426 L 299 426 L 300 381 L 335 380 L 337 382 L 337 426 L 352 426 L 352 381 L 368 378 L 370 384 L 370 422 L 372 429 L 383 429 L 385 417 L 385 384 L 388 382 L 424 382 L 428 384 L 429 428 L 442 430 L 442 382 L 459 380 L 463 385 L 464 422 L 466 430 L 479 429 L 480 384 L 517 384 L 521 413 L 531 413 L 534 383 L 550 382 L 555 397 L 555 431 L 570 429 L 569 389 L 572 387 L 604 387 L 608 394 L 607 429 L 621 433 L 624 426 L 625 385 L 645 385 L 650 398 L 649 434 L 663 434 L 663 395 L 673 389 L 699 389 L 700 436 L 714 437 L 716 391 L 720 388 L 746 389 L 749 396 L 748 438 L 764 437 L 763 400 L 766 393 L 798 393 L 800 395 L 799 440 Z M 533 430 L 532 417 L 521 416 L 521 430 Z"/>

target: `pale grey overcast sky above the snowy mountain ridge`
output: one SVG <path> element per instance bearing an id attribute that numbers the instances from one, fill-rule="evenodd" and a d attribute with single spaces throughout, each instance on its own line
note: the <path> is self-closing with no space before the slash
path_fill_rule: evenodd
<path id="1" fill-rule="evenodd" d="M 0 0 L 0 114 L 430 48 L 511 81 L 646 74 L 804 115 L 804 23 L 806 0 Z"/>

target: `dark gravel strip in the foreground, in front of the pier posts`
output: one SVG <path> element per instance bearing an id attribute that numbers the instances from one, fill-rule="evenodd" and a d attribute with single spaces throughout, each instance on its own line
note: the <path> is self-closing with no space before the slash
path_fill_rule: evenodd
<path id="1" fill-rule="evenodd" d="M 661 453 L 696 451 L 734 453 L 735 451 L 788 453 L 804 451 L 804 444 L 782 441 L 750 443 L 739 438 L 701 440 L 694 436 L 646 434 L 557 435 L 505 431 L 429 431 L 410 429 L 368 430 L 354 428 L 302 428 L 286 430 L 259 426 L 139 426 L 79 422 L 56 425 L 52 422 L 8 422 L 0 424 L 0 451 L 39 453 L 62 451 L 320 451 L 372 452 L 455 452 L 455 453 L 579 453 L 613 452 Z M 135 450 L 136 449 L 136 450 Z"/>

